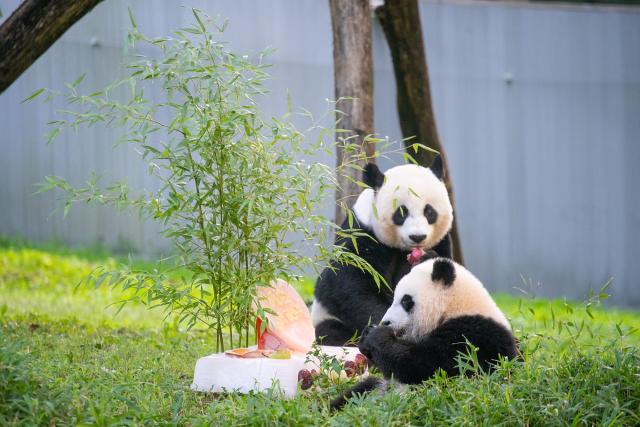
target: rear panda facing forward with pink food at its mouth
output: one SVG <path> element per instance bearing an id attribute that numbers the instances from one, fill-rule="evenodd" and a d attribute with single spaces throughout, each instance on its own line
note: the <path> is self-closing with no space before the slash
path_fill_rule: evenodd
<path id="1" fill-rule="evenodd" d="M 402 165 L 382 173 L 375 164 L 364 169 L 369 187 L 354 207 L 353 234 L 339 239 L 345 250 L 358 253 L 386 280 L 350 265 L 334 263 L 318 278 L 311 317 L 316 338 L 325 345 L 344 345 L 369 324 L 377 324 L 393 300 L 398 280 L 409 272 L 407 255 L 415 248 L 429 256 L 451 257 L 449 230 L 453 209 L 442 182 L 443 166 L 436 156 L 429 168 Z M 343 230 L 351 228 L 345 220 Z M 356 249 L 357 247 L 357 249 Z"/>

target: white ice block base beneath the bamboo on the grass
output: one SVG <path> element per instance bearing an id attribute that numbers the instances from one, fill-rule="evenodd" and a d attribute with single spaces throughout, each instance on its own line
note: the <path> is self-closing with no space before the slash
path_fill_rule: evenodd
<path id="1" fill-rule="evenodd" d="M 339 359 L 354 360 L 356 347 L 321 346 L 322 352 Z M 216 353 L 196 362 L 191 389 L 206 392 L 264 391 L 279 387 L 285 397 L 293 397 L 298 389 L 301 369 L 318 369 L 316 362 L 305 363 L 306 355 L 292 353 L 291 359 L 243 359 Z"/>

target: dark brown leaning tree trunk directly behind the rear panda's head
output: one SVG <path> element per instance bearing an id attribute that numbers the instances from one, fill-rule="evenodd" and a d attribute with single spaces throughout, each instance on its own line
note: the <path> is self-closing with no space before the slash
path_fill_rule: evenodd
<path id="1" fill-rule="evenodd" d="M 422 40 L 418 2 L 417 0 L 386 0 L 384 6 L 376 9 L 376 16 L 391 50 L 402 135 L 404 138 L 415 136 L 405 144 L 410 146 L 418 142 L 440 153 L 445 166 L 444 182 L 455 211 L 451 174 L 438 137 L 431 104 L 429 71 Z M 428 166 L 433 158 L 433 153 L 425 149 L 419 149 L 417 153 L 412 149 L 409 154 L 423 166 Z M 462 264 L 464 258 L 456 223 L 457 221 L 454 221 L 451 229 L 453 257 Z"/>

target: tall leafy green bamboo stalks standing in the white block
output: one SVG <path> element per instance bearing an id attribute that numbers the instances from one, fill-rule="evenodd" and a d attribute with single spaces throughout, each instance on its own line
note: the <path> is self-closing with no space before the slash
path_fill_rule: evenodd
<path id="1" fill-rule="evenodd" d="M 124 182 L 101 184 L 94 174 L 83 187 L 47 177 L 39 191 L 63 190 L 65 216 L 78 202 L 137 210 L 163 225 L 176 256 L 163 269 L 100 266 L 86 283 L 162 306 L 189 328 L 206 325 L 218 350 L 249 344 L 253 305 L 262 312 L 256 288 L 275 278 L 291 280 L 332 260 L 369 272 L 379 286 L 384 280 L 366 261 L 327 241 L 336 227 L 316 214 L 335 191 L 336 173 L 361 162 L 361 147 L 341 142 L 352 154 L 340 171 L 305 162 L 333 147 L 333 140 L 324 141 L 331 131 L 309 117 L 319 135 L 313 142 L 288 116 L 263 117 L 257 102 L 268 77 L 262 55 L 252 60 L 232 52 L 219 41 L 224 27 L 196 10 L 195 25 L 170 38 L 145 37 L 130 17 L 130 47 L 145 44 L 154 55 L 129 64 L 129 77 L 93 94 L 78 93 L 84 76 L 66 93 L 49 93 L 74 108 L 53 123 L 49 139 L 66 128 L 118 128 L 162 185 L 131 189 Z M 150 85 L 161 88 L 159 99 L 145 95 Z M 302 252 L 301 245 L 311 250 Z M 302 255 L 309 252 L 315 255 Z"/>

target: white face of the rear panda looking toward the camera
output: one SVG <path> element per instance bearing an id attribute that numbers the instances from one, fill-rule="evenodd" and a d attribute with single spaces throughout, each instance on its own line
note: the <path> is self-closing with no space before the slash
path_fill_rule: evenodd
<path id="1" fill-rule="evenodd" d="M 453 222 L 444 183 L 429 168 L 417 165 L 389 169 L 382 186 L 365 190 L 354 211 L 381 243 L 403 250 L 434 247 Z"/>

